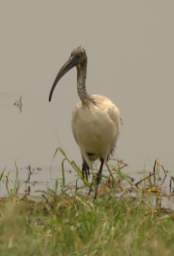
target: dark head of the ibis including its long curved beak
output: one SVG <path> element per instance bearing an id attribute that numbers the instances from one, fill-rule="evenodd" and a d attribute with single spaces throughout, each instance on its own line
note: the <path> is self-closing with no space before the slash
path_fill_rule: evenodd
<path id="1" fill-rule="evenodd" d="M 77 67 L 77 70 L 79 70 L 81 67 L 87 64 L 87 55 L 84 48 L 81 46 L 75 48 L 68 59 L 68 61 L 61 67 L 59 70 L 54 83 L 52 85 L 52 88 L 50 90 L 49 94 L 49 101 L 52 99 L 53 91 L 56 87 L 56 84 L 59 82 L 59 80 L 73 67 Z"/>

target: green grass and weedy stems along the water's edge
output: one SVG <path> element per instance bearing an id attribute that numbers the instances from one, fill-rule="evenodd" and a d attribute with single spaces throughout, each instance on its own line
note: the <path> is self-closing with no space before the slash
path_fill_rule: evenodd
<path id="1" fill-rule="evenodd" d="M 81 173 L 62 154 L 62 179 L 54 190 L 36 200 L 8 188 L 8 197 L 0 200 L 0 255 L 173 255 L 174 211 L 163 206 L 165 198 L 173 198 L 173 179 L 163 193 L 167 172 L 158 161 L 138 182 L 123 175 L 122 163 L 111 162 L 113 175 L 103 177 L 93 200 L 86 180 L 65 184 L 65 161 L 80 178 Z M 4 175 L 1 182 L 7 182 Z"/>

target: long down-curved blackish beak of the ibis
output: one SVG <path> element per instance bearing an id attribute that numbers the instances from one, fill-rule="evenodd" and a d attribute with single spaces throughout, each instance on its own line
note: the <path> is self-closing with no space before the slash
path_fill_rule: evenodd
<path id="1" fill-rule="evenodd" d="M 57 85 L 57 83 L 59 82 L 59 80 L 73 67 L 75 67 L 77 64 L 79 63 L 79 59 L 76 56 L 70 57 L 69 60 L 61 67 L 61 69 L 59 70 L 54 83 L 51 87 L 50 90 L 50 94 L 49 94 L 49 101 L 51 101 L 52 99 L 52 95 L 54 92 L 54 89 Z"/>

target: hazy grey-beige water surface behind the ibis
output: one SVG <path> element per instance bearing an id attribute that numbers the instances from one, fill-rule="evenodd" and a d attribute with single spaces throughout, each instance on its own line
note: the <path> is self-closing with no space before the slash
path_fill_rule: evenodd
<path id="1" fill-rule="evenodd" d="M 0 0 L 0 167 L 80 161 L 71 133 L 76 72 L 48 94 L 71 50 L 88 54 L 87 88 L 121 109 L 116 156 L 130 170 L 155 158 L 174 170 L 174 1 Z M 13 103 L 23 97 L 23 112 Z"/>

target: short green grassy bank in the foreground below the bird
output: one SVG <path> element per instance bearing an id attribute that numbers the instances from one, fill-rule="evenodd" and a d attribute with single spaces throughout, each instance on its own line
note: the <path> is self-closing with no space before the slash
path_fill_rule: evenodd
<path id="1" fill-rule="evenodd" d="M 147 199 L 146 199 L 147 200 Z M 0 202 L 0 255 L 173 255 L 174 214 L 143 199 Z"/>

